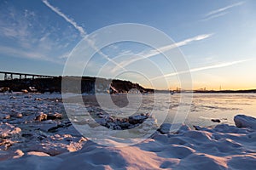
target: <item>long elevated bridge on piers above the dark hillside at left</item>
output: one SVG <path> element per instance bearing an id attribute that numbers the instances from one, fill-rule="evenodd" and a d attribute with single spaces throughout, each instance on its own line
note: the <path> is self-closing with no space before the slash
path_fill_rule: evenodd
<path id="1" fill-rule="evenodd" d="M 34 78 L 54 78 L 53 76 L 18 73 L 18 72 L 8 72 L 8 71 L 0 71 L 0 74 L 4 74 L 4 80 L 13 80 L 14 76 L 18 76 L 19 79 L 26 79 L 29 77 L 31 77 L 32 79 L 34 79 Z"/>

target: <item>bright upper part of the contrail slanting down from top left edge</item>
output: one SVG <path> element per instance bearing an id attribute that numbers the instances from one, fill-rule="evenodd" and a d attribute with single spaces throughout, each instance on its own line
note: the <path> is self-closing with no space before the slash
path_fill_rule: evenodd
<path id="1" fill-rule="evenodd" d="M 75 29 L 77 29 L 80 32 L 81 37 L 86 36 L 86 31 L 84 31 L 82 26 L 79 26 L 75 21 L 68 18 L 66 14 L 63 14 L 59 8 L 55 8 L 47 0 L 43 0 L 43 3 L 49 7 L 51 10 L 53 10 L 56 14 L 59 14 L 64 20 L 66 20 L 68 23 L 70 23 Z"/>

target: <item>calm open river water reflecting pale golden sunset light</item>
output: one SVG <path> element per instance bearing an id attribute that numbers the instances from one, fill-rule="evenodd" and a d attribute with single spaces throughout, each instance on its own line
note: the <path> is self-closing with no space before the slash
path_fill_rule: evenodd
<path id="1" fill-rule="evenodd" d="M 183 95 L 183 100 L 181 100 Z M 192 127 L 212 126 L 218 122 L 234 125 L 237 114 L 256 116 L 256 94 L 98 94 L 83 95 L 84 107 L 96 105 L 97 111 L 127 117 L 132 114 L 150 113 L 159 116 L 159 122 L 172 123 L 175 116 Z M 78 100 L 73 98 L 73 102 Z M 160 114 L 165 115 L 161 117 Z M 156 117 L 157 118 L 157 117 Z"/>

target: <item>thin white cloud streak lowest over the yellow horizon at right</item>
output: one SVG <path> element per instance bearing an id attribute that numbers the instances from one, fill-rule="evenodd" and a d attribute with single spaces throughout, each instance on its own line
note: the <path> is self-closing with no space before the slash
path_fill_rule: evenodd
<path id="1" fill-rule="evenodd" d="M 194 69 L 190 69 L 189 71 L 179 71 L 179 72 L 173 72 L 170 74 L 166 74 L 160 77 L 154 77 L 151 78 L 150 80 L 156 80 L 156 79 L 160 79 L 160 78 L 166 78 L 166 77 L 173 77 L 173 76 L 177 76 L 180 74 L 185 74 L 185 73 L 189 73 L 189 72 L 195 72 L 195 71 L 206 71 L 209 69 L 217 69 L 217 68 L 222 68 L 222 67 L 226 67 L 226 66 L 230 66 L 230 65 L 236 65 L 239 63 L 243 63 L 243 62 L 247 62 L 253 59 L 243 59 L 243 60 L 237 60 L 237 61 L 231 61 L 231 62 L 224 62 L 224 63 L 220 63 L 217 65 L 207 65 L 207 66 L 203 66 L 203 67 L 198 67 L 198 68 L 194 68 Z"/>

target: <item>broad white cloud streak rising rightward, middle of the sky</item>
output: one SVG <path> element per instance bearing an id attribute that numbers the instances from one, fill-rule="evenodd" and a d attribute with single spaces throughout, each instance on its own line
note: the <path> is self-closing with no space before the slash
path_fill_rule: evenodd
<path id="1" fill-rule="evenodd" d="M 158 49 L 152 49 L 152 50 L 149 50 L 149 51 L 143 51 L 139 54 L 133 54 L 133 56 L 131 56 L 132 57 L 131 59 L 127 59 L 127 60 L 122 61 L 119 64 L 119 67 L 113 68 L 112 71 L 113 72 L 118 71 L 119 68 L 124 68 L 127 65 L 131 65 L 131 63 L 134 63 L 137 60 L 147 59 L 147 58 L 152 57 L 154 55 L 165 53 L 168 50 L 171 50 L 173 48 L 182 47 L 184 45 L 189 44 L 190 42 L 196 42 L 196 41 L 201 41 L 201 40 L 207 39 L 208 37 L 212 37 L 212 35 L 213 35 L 213 33 L 211 33 L 211 34 L 202 34 L 202 35 L 199 35 L 199 36 L 196 36 L 196 37 L 190 37 L 190 38 L 185 39 L 181 42 L 176 42 L 176 43 L 172 43 L 170 45 L 164 46 L 164 47 L 160 47 Z"/>

